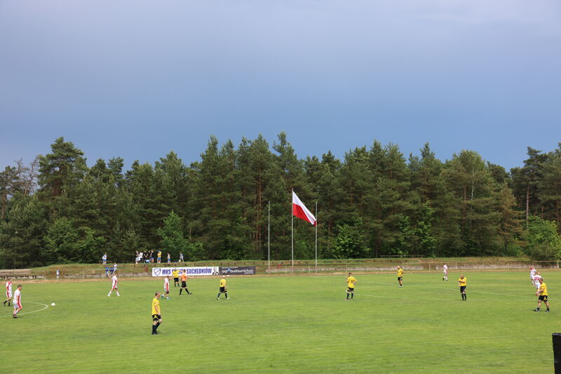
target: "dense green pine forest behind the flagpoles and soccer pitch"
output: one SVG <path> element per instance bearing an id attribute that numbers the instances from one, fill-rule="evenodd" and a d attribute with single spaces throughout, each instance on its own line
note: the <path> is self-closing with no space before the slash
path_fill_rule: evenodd
<path id="1" fill-rule="evenodd" d="M 269 245 L 271 259 L 285 260 L 292 189 L 318 218 L 319 258 L 561 254 L 561 143 L 528 147 L 506 171 L 470 150 L 441 161 L 428 143 L 408 157 L 374 141 L 343 159 L 328 150 L 300 159 L 285 133 L 272 146 L 262 135 L 237 147 L 212 136 L 198 161 L 171 151 L 125 168 L 119 156 L 88 167 L 58 138 L 50 153 L 0 172 L 0 268 L 103 253 L 131 262 L 158 249 L 189 261 L 263 260 Z M 295 258 L 313 258 L 315 228 L 294 227 Z"/>

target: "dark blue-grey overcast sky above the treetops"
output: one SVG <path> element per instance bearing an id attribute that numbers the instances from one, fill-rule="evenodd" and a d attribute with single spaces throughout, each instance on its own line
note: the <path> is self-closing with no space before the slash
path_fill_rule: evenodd
<path id="1" fill-rule="evenodd" d="M 558 0 L 0 0 L 0 168 L 60 136 L 128 169 L 285 131 L 300 158 L 509 170 L 561 142 L 560 67 Z"/>

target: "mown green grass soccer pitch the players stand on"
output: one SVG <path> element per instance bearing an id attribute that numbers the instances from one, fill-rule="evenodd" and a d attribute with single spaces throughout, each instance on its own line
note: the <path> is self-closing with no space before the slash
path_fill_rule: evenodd
<path id="1" fill-rule="evenodd" d="M 356 274 L 189 279 L 193 295 L 162 300 L 151 335 L 151 299 L 163 279 L 22 283 L 24 309 L 0 307 L 3 373 L 529 373 L 553 370 L 551 333 L 561 332 L 561 272 L 544 271 L 552 312 L 532 312 L 527 272 Z M 15 282 L 17 284 L 17 281 Z M 173 286 L 173 282 L 172 282 Z M 46 307 L 55 302 L 56 307 Z M 43 309 L 45 308 L 45 309 Z"/>

